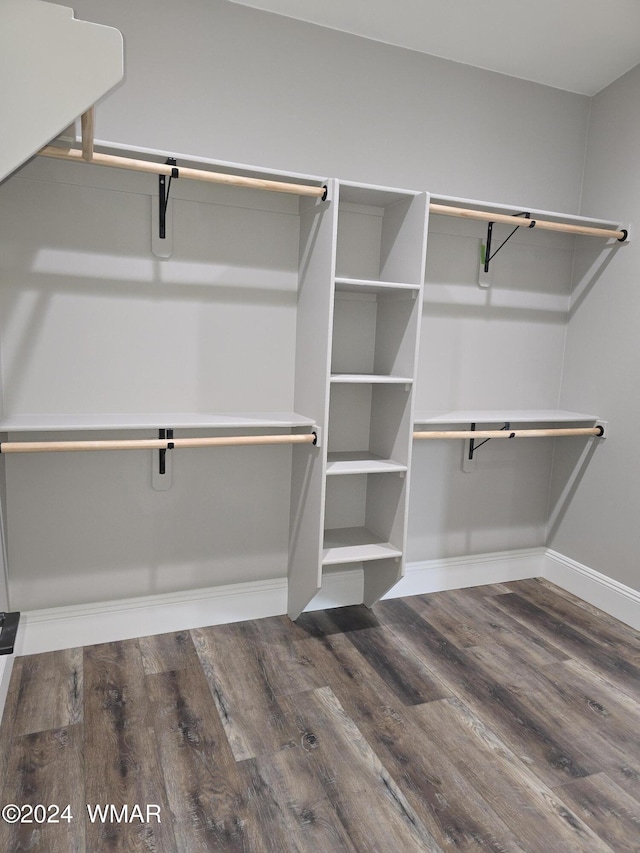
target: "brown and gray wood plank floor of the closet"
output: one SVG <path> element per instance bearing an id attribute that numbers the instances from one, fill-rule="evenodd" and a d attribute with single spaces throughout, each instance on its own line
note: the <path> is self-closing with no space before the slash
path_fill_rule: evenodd
<path id="1" fill-rule="evenodd" d="M 6 853 L 640 851 L 640 635 L 532 580 L 21 657 L 0 745 L 74 816 Z"/>

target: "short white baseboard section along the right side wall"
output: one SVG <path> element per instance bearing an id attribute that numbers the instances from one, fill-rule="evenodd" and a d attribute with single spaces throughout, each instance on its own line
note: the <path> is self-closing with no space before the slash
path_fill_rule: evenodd
<path id="1" fill-rule="evenodd" d="M 609 616 L 640 629 L 640 592 L 637 590 L 550 548 L 545 550 L 541 576 Z"/>

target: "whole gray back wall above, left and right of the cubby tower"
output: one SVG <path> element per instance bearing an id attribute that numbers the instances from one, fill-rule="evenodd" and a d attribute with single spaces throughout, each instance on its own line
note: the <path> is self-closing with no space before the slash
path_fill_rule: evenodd
<path id="1" fill-rule="evenodd" d="M 100 139 L 167 154 L 185 152 L 285 171 L 578 210 L 590 103 L 585 97 L 223 0 L 77 0 L 74 8 L 77 17 L 116 26 L 125 38 L 126 78 L 98 107 Z M 216 312 L 222 310 L 225 338 L 235 348 L 224 356 L 229 374 L 216 373 L 224 408 L 290 408 L 295 246 L 289 242 L 286 215 L 283 234 L 276 240 L 282 255 L 269 255 L 275 245 L 268 230 L 275 227 L 271 223 L 254 250 L 256 257 L 245 261 L 247 267 L 275 270 L 276 278 L 259 282 L 257 288 L 247 282 L 247 300 L 239 300 L 233 270 L 243 264 L 247 227 L 253 228 L 250 210 L 242 214 L 247 227 L 222 234 L 233 259 L 225 266 L 201 230 L 203 212 L 206 217 L 218 214 L 206 199 L 180 200 L 187 190 L 178 182 L 176 255 L 170 262 L 157 261 L 148 250 L 149 200 L 143 198 L 148 191 L 133 176 L 87 176 L 80 183 L 93 182 L 95 188 L 74 187 L 78 181 L 70 176 L 70 168 L 34 163 L 2 188 L 3 233 L 11 236 L 14 246 L 5 254 L 11 278 L 4 293 L 4 317 L 11 318 L 12 325 L 5 328 L 2 356 L 9 411 L 35 411 L 39 399 L 55 391 L 55 384 L 47 382 L 49 374 L 54 382 L 60 376 L 52 357 L 66 358 L 67 366 L 74 367 L 71 350 L 61 348 L 59 341 L 65 335 L 73 340 L 78 311 L 89 323 L 90 333 L 83 339 L 88 350 L 96 335 L 105 334 L 100 317 L 108 316 L 127 337 L 103 399 L 94 399 L 100 392 L 85 375 L 85 385 L 75 391 L 59 389 L 71 407 L 82 398 L 97 409 L 112 410 L 120 393 L 114 376 L 124 377 L 126 350 L 135 352 L 137 340 L 137 369 L 150 376 L 155 374 L 145 353 L 158 342 L 166 341 L 169 347 L 161 355 L 167 384 L 163 389 L 151 380 L 145 386 L 145 404 L 138 401 L 142 409 L 220 410 L 216 400 L 207 398 L 203 389 L 211 386 L 202 380 L 210 376 L 211 365 L 219 363 L 214 359 L 223 341 L 207 336 L 209 324 L 202 318 L 210 314 L 215 323 Z M 87 167 L 87 175 L 92 171 Z M 619 215 L 615 200 L 611 210 L 595 202 L 594 214 Z M 122 204 L 130 215 L 119 215 Z M 97 229 L 91 224 L 94 216 Z M 532 233 L 514 241 L 501 253 L 496 289 L 487 297 L 479 295 L 474 282 L 475 249 L 452 252 L 447 264 L 447 235 L 455 233 L 456 226 L 448 223 L 440 231 L 428 273 L 430 284 L 440 292 L 435 296 L 431 290 L 425 303 L 421 407 L 430 407 L 432 395 L 437 396 L 436 407 L 557 405 L 566 330 L 564 308 L 558 311 L 557 305 L 568 299 L 566 243 L 545 248 L 543 241 L 541 249 L 531 253 L 527 238 L 535 243 L 542 236 Z M 465 239 L 477 246 L 481 233 L 480 226 L 471 227 Z M 545 265 L 549 253 L 558 257 L 551 274 Z M 68 269 L 69 259 L 75 271 Z M 151 270 L 150 277 L 145 270 Z M 172 270 L 177 270 L 174 278 Z M 556 293 L 548 290 L 550 280 Z M 203 282 L 216 286 L 206 290 Z M 266 379 L 255 381 L 245 367 L 256 358 L 264 366 L 258 330 L 264 327 L 265 306 L 269 325 L 277 324 L 279 332 L 271 352 L 274 369 L 265 373 Z M 149 312 L 155 325 L 141 320 Z M 447 360 L 452 323 L 455 334 L 464 327 L 465 339 L 478 343 L 476 350 L 456 348 L 465 364 Z M 541 340 L 549 344 L 546 355 L 531 361 L 527 353 L 540 351 Z M 186 384 L 181 384 L 175 358 L 167 352 L 179 352 L 185 359 Z M 477 369 L 477 353 L 486 369 Z M 434 354 L 443 359 L 446 381 L 442 372 L 433 373 Z M 193 359 L 204 371 L 199 377 L 194 377 Z M 108 363 L 103 352 L 99 371 Z M 475 379 L 470 379 L 474 372 Z M 247 382 L 259 402 L 238 405 L 244 401 L 234 395 Z M 130 393 L 133 383 L 127 387 Z M 181 395 L 181 405 L 159 402 L 167 387 Z M 273 405 L 266 405 L 265 395 Z M 588 400 L 577 392 L 575 397 L 571 408 L 588 410 Z M 417 449 L 409 559 L 544 544 L 551 445 L 532 443 L 518 453 L 491 444 L 483 450 L 478 470 L 462 474 L 459 447 Z M 13 606 L 46 607 L 284 575 L 290 456 L 278 453 L 258 457 L 257 468 L 255 456 L 248 461 L 244 456 L 240 470 L 235 457 L 207 459 L 206 465 L 193 458 L 184 467 L 180 463 L 176 485 L 168 493 L 151 491 L 149 460 L 143 457 L 139 462 L 127 457 L 122 463 L 12 460 L 8 525 Z M 207 474 L 210 465 L 216 466 L 212 475 Z M 127 506 L 135 512 L 128 512 Z"/>

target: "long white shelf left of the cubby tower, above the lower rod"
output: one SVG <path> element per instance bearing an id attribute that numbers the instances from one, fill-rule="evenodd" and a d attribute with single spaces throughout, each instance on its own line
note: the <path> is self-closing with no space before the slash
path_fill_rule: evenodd
<path id="1" fill-rule="evenodd" d="M 110 429 L 270 429 L 310 427 L 296 412 L 149 412 L 145 414 L 16 415 L 0 420 L 0 432 L 64 432 Z"/>

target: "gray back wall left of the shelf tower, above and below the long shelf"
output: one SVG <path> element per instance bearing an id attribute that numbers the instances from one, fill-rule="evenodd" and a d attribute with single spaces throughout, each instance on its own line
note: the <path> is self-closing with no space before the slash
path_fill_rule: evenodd
<path id="1" fill-rule="evenodd" d="M 86 167 L 78 185 L 78 171 L 38 160 L 0 187 L 5 416 L 291 411 L 297 199 L 174 181 L 160 261 L 154 179 Z M 289 448 L 175 451 L 161 492 L 154 460 L 7 458 L 12 607 L 286 572 Z"/>

